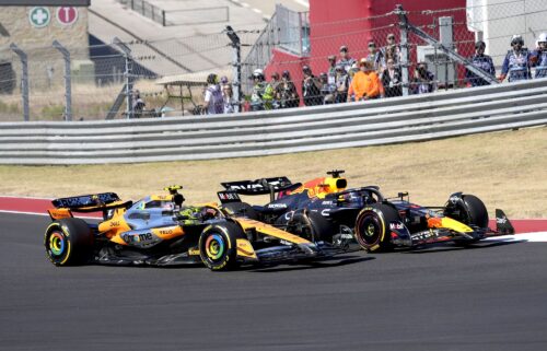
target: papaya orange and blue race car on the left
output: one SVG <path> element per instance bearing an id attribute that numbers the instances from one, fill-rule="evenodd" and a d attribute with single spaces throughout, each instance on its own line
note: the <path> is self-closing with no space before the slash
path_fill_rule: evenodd
<path id="1" fill-rule="evenodd" d="M 341 253 L 256 220 L 231 217 L 217 203 L 185 206 L 181 186 L 137 202 L 114 192 L 60 198 L 44 245 L 56 266 L 86 262 L 170 266 L 205 264 L 226 270 L 242 264 L 314 259 Z M 94 223 L 72 212 L 103 213 Z"/>

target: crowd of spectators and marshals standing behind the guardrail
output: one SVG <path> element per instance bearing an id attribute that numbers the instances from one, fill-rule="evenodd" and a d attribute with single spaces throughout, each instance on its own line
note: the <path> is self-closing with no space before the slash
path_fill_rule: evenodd
<path id="1" fill-rule="evenodd" d="M 475 44 L 475 55 L 468 62 L 480 69 L 486 75 L 496 78 L 492 58 L 485 54 L 486 44 Z M 284 70 L 279 74 L 274 72 L 266 80 L 261 69 L 256 69 L 252 77 L 253 87 L 246 104 L 249 110 L 279 109 L 300 106 L 340 104 L 394 97 L 403 95 L 403 73 L 400 69 L 401 50 L 396 44 L 394 34 L 386 36 L 386 45 L 379 48 L 375 42 L 368 44 L 368 55 L 359 60 L 352 58 L 346 45 L 339 48 L 339 57 L 328 56 L 325 72 L 315 75 L 310 66 L 302 67 L 302 84 L 300 92 L 291 74 Z M 409 93 L 426 94 L 437 90 L 437 79 L 428 69 L 427 62 L 417 62 L 414 73 L 409 77 Z M 547 77 L 547 33 L 542 33 L 537 47 L 529 51 L 524 47 L 522 36 L 511 38 L 511 49 L 508 50 L 497 79 L 509 82 L 532 79 L 532 68 L 535 78 Z M 467 86 L 490 84 L 485 74 L 472 70 L 465 71 Z M 240 103 L 233 96 L 232 84 L 226 77 L 219 78 L 211 73 L 207 78 L 205 89 L 205 113 L 229 114 L 240 110 Z"/>

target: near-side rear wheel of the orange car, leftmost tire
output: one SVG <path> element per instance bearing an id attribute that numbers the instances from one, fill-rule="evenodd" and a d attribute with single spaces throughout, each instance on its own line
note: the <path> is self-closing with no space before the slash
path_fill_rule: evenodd
<path id="1" fill-rule="evenodd" d="M 81 219 L 67 218 L 53 222 L 44 235 L 46 256 L 55 266 L 86 264 L 93 256 L 93 233 Z"/>

